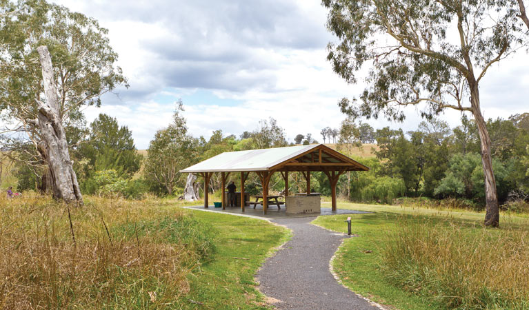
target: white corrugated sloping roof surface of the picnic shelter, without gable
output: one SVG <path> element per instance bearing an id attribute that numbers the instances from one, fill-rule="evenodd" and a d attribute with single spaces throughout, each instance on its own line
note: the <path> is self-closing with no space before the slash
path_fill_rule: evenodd
<path id="1" fill-rule="evenodd" d="M 275 147 L 273 149 L 250 149 L 248 151 L 225 152 L 180 170 L 182 173 L 265 171 L 283 161 L 314 149 L 319 145 Z"/>

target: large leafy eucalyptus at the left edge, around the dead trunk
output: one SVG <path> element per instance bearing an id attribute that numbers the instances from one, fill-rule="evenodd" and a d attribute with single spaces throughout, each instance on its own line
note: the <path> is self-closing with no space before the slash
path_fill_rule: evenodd
<path id="1" fill-rule="evenodd" d="M 63 169 L 71 170 L 74 179 L 66 136 L 59 127 L 78 123 L 83 106 L 99 106 L 102 94 L 126 83 L 114 65 L 117 54 L 110 47 L 108 30 L 95 19 L 43 0 L 0 5 L 5 16 L 0 20 L 3 123 L 11 124 L 6 130 L 23 132 L 20 137 L 39 149 L 50 168 L 54 196 L 71 200 L 59 193 L 61 176 L 50 163 L 57 155 L 53 160 L 68 166 Z M 39 47 L 43 48 L 37 52 Z M 51 128 L 59 140 L 52 141 Z M 61 145 L 60 152 L 52 152 L 55 143 Z M 81 200 L 80 194 L 76 196 Z"/>

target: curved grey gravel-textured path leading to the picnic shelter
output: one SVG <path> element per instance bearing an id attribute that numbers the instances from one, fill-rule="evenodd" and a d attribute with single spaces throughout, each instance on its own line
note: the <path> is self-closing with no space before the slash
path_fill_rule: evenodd
<path id="1" fill-rule="evenodd" d="M 310 218 L 272 220 L 292 229 L 288 241 L 257 273 L 259 289 L 278 309 L 379 309 L 343 287 L 329 270 L 343 234 L 311 225 Z"/>

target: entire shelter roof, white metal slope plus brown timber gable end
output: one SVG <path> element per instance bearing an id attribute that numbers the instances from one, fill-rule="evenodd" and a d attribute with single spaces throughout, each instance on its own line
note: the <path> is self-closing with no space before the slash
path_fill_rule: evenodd
<path id="1" fill-rule="evenodd" d="M 323 169 L 368 170 L 369 168 L 326 145 L 319 144 L 224 152 L 180 172 L 322 171 Z"/>

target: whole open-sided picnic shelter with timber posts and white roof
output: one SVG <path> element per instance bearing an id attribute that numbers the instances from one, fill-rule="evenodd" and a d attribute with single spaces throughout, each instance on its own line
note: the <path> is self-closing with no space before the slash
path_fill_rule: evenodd
<path id="1" fill-rule="evenodd" d="M 310 195 L 310 172 L 323 172 L 329 179 L 332 211 L 337 209 L 336 186 L 341 174 L 348 171 L 368 171 L 369 168 L 352 158 L 337 152 L 326 145 L 298 145 L 292 147 L 275 147 L 270 149 L 250 149 L 238 152 L 224 152 L 182 169 L 181 173 L 190 173 L 203 177 L 204 207 L 209 207 L 208 187 L 213 174 L 221 174 L 222 209 L 226 207 L 224 191 L 230 174 L 241 174 L 241 211 L 246 204 L 244 186 L 250 172 L 257 174 L 263 188 L 263 214 L 268 210 L 268 189 L 272 174 L 279 172 L 285 181 L 284 195 L 288 196 L 288 173 L 301 172 L 306 180 L 307 196 Z M 279 206 L 278 206 L 279 207 Z M 288 208 L 288 205 L 286 206 Z"/>

